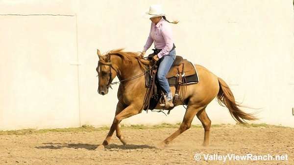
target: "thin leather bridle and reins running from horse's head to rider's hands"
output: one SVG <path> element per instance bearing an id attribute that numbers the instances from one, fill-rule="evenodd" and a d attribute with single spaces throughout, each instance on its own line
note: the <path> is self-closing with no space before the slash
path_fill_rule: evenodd
<path id="1" fill-rule="evenodd" d="M 100 61 L 100 60 L 98 61 L 98 63 L 100 63 L 100 64 L 108 65 L 108 66 L 109 66 L 109 80 L 108 80 L 108 83 L 107 83 L 107 85 L 106 85 L 107 89 L 108 89 L 108 88 L 111 88 L 111 89 L 112 89 L 111 85 L 113 85 L 113 84 L 117 84 L 117 83 L 125 82 L 125 81 L 130 81 L 130 80 L 136 79 L 136 78 L 138 78 L 138 77 L 144 76 L 149 70 L 152 70 L 152 68 L 153 68 L 153 67 L 155 66 L 155 64 L 156 64 L 156 62 L 155 62 L 153 66 L 151 66 L 148 70 L 146 70 L 144 73 L 142 73 L 142 74 L 140 74 L 140 75 L 137 75 L 137 76 L 134 76 L 134 77 L 131 77 L 131 78 L 127 78 L 127 79 L 124 79 L 124 80 L 120 80 L 120 81 L 118 81 L 118 82 L 112 82 L 113 80 L 111 79 L 111 78 L 112 78 L 111 68 L 113 68 L 113 70 L 115 70 L 115 72 L 117 73 L 118 78 L 119 78 L 119 75 L 118 75 L 118 70 L 112 66 L 112 63 L 111 63 L 111 56 L 110 56 L 110 55 L 111 55 L 111 54 L 108 54 L 108 56 L 109 56 L 109 57 L 108 57 L 108 59 L 109 59 L 108 61 L 109 61 L 109 62 L 104 62 L 104 61 Z M 98 77 L 98 75 L 97 75 L 96 77 Z M 119 78 L 119 79 L 120 79 L 120 78 Z"/>

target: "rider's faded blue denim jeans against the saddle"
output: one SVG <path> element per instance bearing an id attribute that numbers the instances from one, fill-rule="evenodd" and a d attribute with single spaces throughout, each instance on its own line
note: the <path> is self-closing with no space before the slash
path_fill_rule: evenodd
<path id="1" fill-rule="evenodd" d="M 168 79 L 166 78 L 166 75 L 171 69 L 174 59 L 175 59 L 175 49 L 173 49 L 168 55 L 165 55 L 159 59 L 158 61 L 159 67 L 157 69 L 157 80 L 161 88 L 164 90 L 164 93 L 168 94 L 169 100 L 172 99 L 172 98 L 169 98 L 169 96 L 172 96 L 172 95 L 171 95 L 171 89 L 170 89 Z"/>

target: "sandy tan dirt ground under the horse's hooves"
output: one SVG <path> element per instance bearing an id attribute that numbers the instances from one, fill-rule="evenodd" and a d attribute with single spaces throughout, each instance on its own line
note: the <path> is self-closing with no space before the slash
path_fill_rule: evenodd
<path id="1" fill-rule="evenodd" d="M 176 128 L 123 128 L 106 151 L 94 151 L 107 130 L 0 135 L 0 165 L 294 165 L 294 128 L 222 125 L 211 128 L 210 146 L 201 146 L 203 128 L 192 127 L 164 150 L 154 144 Z M 115 134 L 114 134 L 115 135 Z M 201 160 L 194 159 L 200 154 Z M 203 154 L 288 155 L 288 161 L 203 160 Z"/>

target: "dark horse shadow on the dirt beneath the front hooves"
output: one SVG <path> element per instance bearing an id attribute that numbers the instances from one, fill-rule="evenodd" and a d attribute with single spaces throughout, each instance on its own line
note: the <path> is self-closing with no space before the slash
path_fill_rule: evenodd
<path id="1" fill-rule="evenodd" d="M 68 143 L 43 143 L 45 146 L 35 146 L 38 149 L 62 149 L 62 148 L 74 148 L 74 149 L 88 149 L 95 150 L 98 145 L 95 144 L 68 144 Z M 118 144 L 109 144 L 105 146 L 106 149 L 143 149 L 143 148 L 155 148 L 150 145 L 137 145 L 137 144 L 126 144 L 126 145 L 118 145 Z"/>

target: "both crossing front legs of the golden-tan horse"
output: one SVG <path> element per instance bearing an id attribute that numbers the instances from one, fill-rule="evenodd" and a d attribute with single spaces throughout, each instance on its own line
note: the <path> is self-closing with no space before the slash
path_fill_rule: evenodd
<path id="1" fill-rule="evenodd" d="M 117 137 L 121 140 L 121 142 L 123 144 L 126 144 L 124 141 L 124 138 L 122 136 L 119 124 L 121 123 L 121 121 L 123 119 L 126 119 L 128 117 L 131 117 L 133 115 L 138 114 L 140 112 L 140 109 L 135 108 L 134 105 L 129 105 L 126 108 L 124 108 L 124 109 L 123 108 L 124 107 L 121 103 L 117 105 L 116 115 L 115 115 L 113 123 L 110 127 L 110 130 L 109 130 L 105 140 L 103 141 L 103 143 L 101 145 L 98 145 L 96 150 L 105 149 L 105 146 L 109 144 L 110 139 L 111 139 L 115 130 L 117 131 Z"/>

